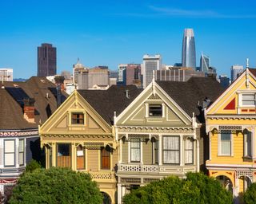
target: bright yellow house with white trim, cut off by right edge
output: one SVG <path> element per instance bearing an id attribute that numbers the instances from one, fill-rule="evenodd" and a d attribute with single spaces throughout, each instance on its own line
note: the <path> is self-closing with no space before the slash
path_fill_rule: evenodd
<path id="1" fill-rule="evenodd" d="M 246 69 L 206 110 L 209 175 L 234 197 L 256 181 L 256 69 Z"/>

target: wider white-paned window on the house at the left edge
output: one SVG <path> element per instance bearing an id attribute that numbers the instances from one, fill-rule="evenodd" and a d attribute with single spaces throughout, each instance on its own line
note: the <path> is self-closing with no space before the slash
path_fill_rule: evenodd
<path id="1" fill-rule="evenodd" d="M 15 166 L 15 140 L 6 139 L 4 140 L 4 159 L 5 167 L 14 167 Z"/>

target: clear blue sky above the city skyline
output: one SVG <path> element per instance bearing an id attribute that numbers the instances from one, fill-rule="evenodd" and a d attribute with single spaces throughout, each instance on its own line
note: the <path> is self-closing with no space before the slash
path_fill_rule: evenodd
<path id="1" fill-rule="evenodd" d="M 210 56 L 218 74 L 231 65 L 256 67 L 256 2 L 246 1 L 57 1 L 0 2 L 0 68 L 14 77 L 37 74 L 37 46 L 57 47 L 58 73 L 80 58 L 88 67 L 142 63 L 143 54 L 162 55 L 173 65 L 182 58 L 185 28 L 195 34 L 200 54 Z"/>

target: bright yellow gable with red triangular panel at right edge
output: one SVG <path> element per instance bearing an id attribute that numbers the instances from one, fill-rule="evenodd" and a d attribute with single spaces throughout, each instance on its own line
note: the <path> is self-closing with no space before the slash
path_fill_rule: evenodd
<path id="1" fill-rule="evenodd" d="M 235 115 L 245 110 L 242 108 L 242 93 L 256 92 L 256 79 L 250 70 L 247 69 L 240 75 L 210 108 L 206 110 L 207 115 Z"/>

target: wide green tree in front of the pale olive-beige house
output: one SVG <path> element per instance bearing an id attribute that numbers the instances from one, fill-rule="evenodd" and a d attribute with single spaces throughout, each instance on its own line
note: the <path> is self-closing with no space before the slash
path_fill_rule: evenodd
<path id="1" fill-rule="evenodd" d="M 232 194 L 220 182 L 202 173 L 188 173 L 186 179 L 171 176 L 126 194 L 126 204 L 131 203 L 233 203 Z"/>

